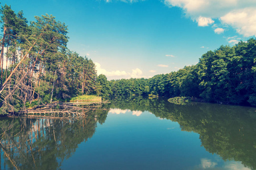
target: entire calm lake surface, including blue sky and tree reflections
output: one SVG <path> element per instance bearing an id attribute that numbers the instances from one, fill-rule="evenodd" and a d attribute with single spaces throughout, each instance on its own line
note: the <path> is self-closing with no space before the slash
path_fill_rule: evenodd
<path id="1" fill-rule="evenodd" d="M 115 100 L 86 118 L 2 118 L 1 169 L 256 169 L 256 108 Z"/>

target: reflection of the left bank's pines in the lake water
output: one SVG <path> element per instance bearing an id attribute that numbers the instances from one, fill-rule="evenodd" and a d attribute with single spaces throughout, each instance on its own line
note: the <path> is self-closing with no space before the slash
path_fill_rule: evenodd
<path id="1" fill-rule="evenodd" d="M 88 112 L 84 118 L 5 118 L 0 121 L 0 168 L 58 169 L 79 143 L 93 136 L 108 111 Z"/>

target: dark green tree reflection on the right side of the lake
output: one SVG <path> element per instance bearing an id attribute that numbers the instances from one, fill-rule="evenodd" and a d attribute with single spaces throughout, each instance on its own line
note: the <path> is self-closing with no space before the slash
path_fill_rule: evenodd
<path id="1" fill-rule="evenodd" d="M 200 134 L 201 144 L 208 152 L 256 169 L 255 108 L 207 103 L 175 105 L 163 99 L 114 100 L 110 107 L 149 111 L 156 117 L 178 122 L 181 130 Z M 201 168 L 216 165 L 207 159 L 201 163 Z"/>

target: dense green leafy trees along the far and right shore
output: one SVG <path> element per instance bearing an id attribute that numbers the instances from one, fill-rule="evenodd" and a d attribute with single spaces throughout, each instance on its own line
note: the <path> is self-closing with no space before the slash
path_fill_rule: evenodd
<path id="1" fill-rule="evenodd" d="M 101 76 L 102 96 L 197 97 L 208 102 L 256 105 L 256 40 L 203 54 L 199 63 L 150 79 L 106 80 Z M 100 77 L 99 76 L 99 77 Z"/>

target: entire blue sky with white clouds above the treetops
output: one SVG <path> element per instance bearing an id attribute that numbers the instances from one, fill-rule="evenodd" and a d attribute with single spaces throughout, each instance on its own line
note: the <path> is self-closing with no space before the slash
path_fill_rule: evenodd
<path id="1" fill-rule="evenodd" d="M 52 14 L 68 48 L 108 80 L 151 78 L 196 65 L 209 50 L 256 36 L 252 0 L 2 0 L 28 21 Z"/>

